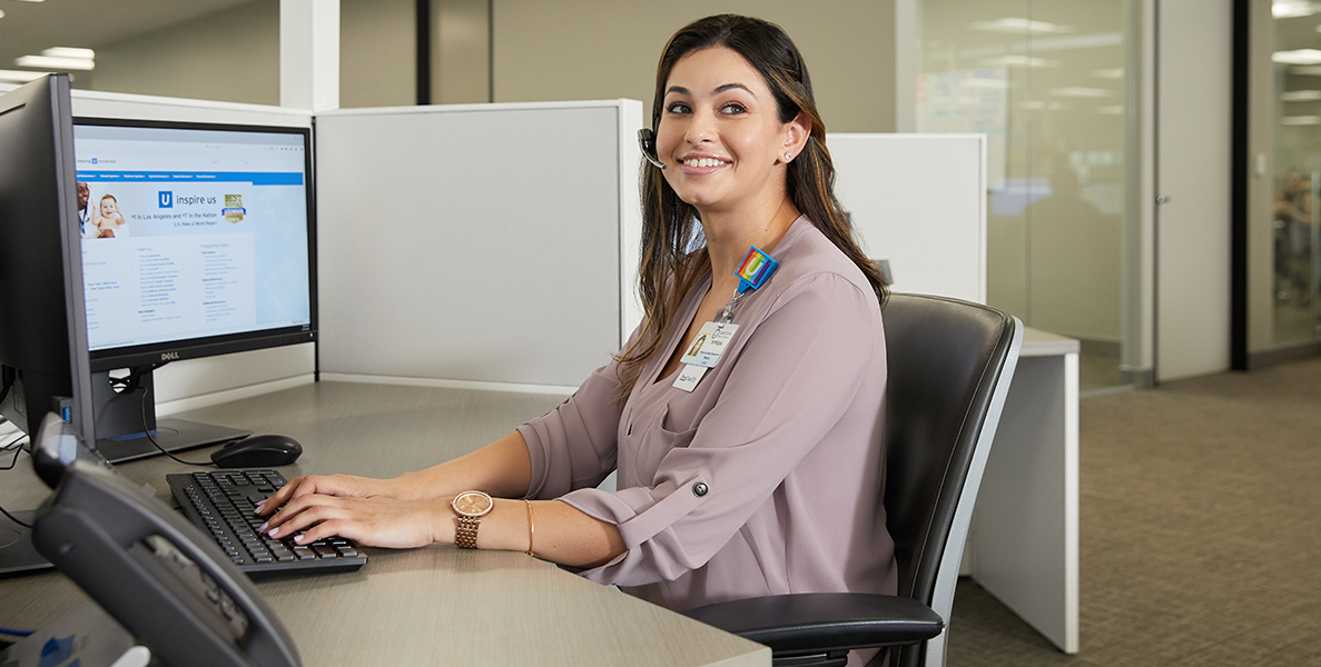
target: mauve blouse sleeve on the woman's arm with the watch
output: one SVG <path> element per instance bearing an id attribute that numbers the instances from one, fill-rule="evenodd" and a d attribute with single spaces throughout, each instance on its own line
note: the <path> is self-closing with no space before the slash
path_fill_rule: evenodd
<path id="1" fill-rule="evenodd" d="M 617 524 L 626 551 L 583 572 L 624 586 L 704 565 L 840 420 L 878 345 L 876 297 L 835 273 L 790 285 L 750 334 L 692 442 L 650 487 L 563 498 Z M 881 353 L 884 354 L 884 353 Z"/>

